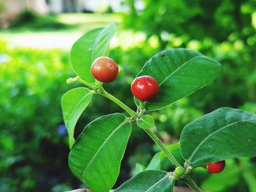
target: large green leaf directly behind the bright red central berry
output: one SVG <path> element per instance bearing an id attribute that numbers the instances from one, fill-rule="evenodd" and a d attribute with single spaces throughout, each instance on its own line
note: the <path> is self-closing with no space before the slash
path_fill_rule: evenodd
<path id="1" fill-rule="evenodd" d="M 189 96 L 211 83 L 221 71 L 221 65 L 188 49 L 170 49 L 150 58 L 137 74 L 150 75 L 159 82 L 159 93 L 146 101 L 147 110 L 159 110 Z"/>

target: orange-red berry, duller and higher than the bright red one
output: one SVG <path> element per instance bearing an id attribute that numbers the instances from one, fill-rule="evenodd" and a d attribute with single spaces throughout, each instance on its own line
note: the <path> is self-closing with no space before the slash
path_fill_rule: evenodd
<path id="1" fill-rule="evenodd" d="M 116 80 L 118 66 L 111 58 L 99 57 L 91 65 L 91 74 L 100 82 L 112 82 Z"/>

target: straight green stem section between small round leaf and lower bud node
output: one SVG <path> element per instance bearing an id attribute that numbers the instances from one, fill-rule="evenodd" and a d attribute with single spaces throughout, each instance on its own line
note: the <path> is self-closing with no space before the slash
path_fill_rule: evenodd
<path id="1" fill-rule="evenodd" d="M 146 131 L 146 133 L 149 135 L 149 137 L 151 137 L 151 139 L 153 139 L 154 142 L 161 148 L 161 150 L 165 153 L 167 158 L 170 160 L 170 162 L 174 166 L 176 166 L 176 167 L 181 166 L 180 164 L 178 164 L 178 161 L 173 156 L 173 154 L 170 153 L 170 151 L 167 149 L 167 147 L 165 147 L 165 145 L 161 142 L 161 140 L 157 137 L 157 135 L 155 135 L 154 132 L 151 131 L 151 129 L 144 129 L 144 131 Z"/>

